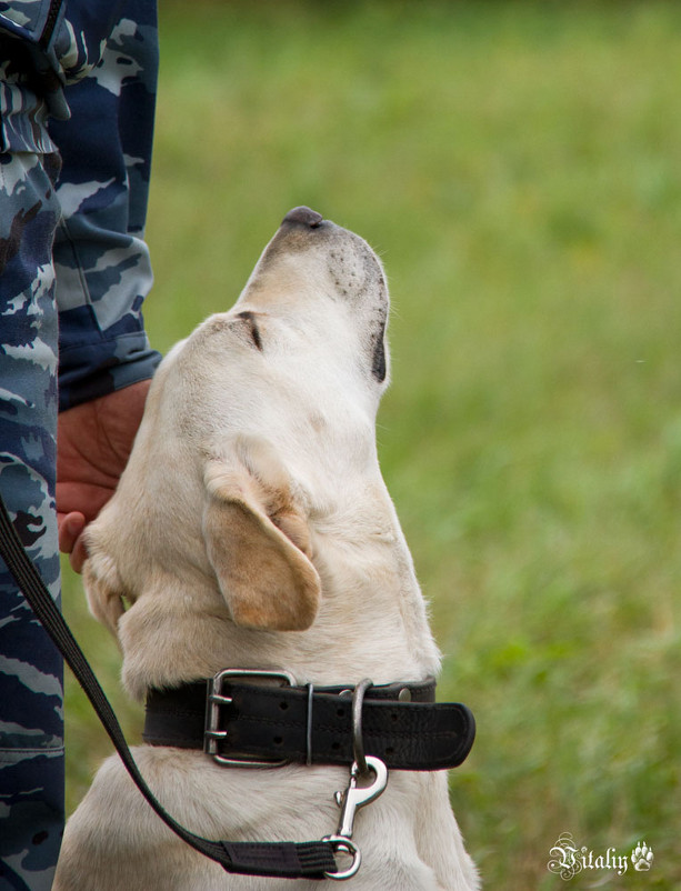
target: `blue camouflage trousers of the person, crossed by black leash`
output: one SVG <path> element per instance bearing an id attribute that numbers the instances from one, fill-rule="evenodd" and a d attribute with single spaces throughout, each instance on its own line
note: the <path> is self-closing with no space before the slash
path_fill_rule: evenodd
<path id="1" fill-rule="evenodd" d="M 56 156 L 0 154 L 0 491 L 57 599 Z M 0 561 L 0 891 L 49 891 L 63 829 L 62 662 Z"/>

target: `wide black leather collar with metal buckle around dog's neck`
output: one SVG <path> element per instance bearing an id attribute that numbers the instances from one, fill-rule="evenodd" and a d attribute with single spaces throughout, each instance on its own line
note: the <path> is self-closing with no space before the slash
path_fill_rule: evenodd
<path id="1" fill-rule="evenodd" d="M 353 685 L 273 687 L 228 679 L 221 685 L 213 737 L 218 760 L 351 764 Z M 461 703 L 434 702 L 435 682 L 369 687 L 361 708 L 367 754 L 397 770 L 455 768 L 473 744 L 475 723 Z M 211 681 L 147 698 L 143 739 L 151 745 L 206 749 L 207 702 Z M 210 711 L 210 709 L 208 709 Z M 209 734 L 211 735 L 211 734 Z"/>

